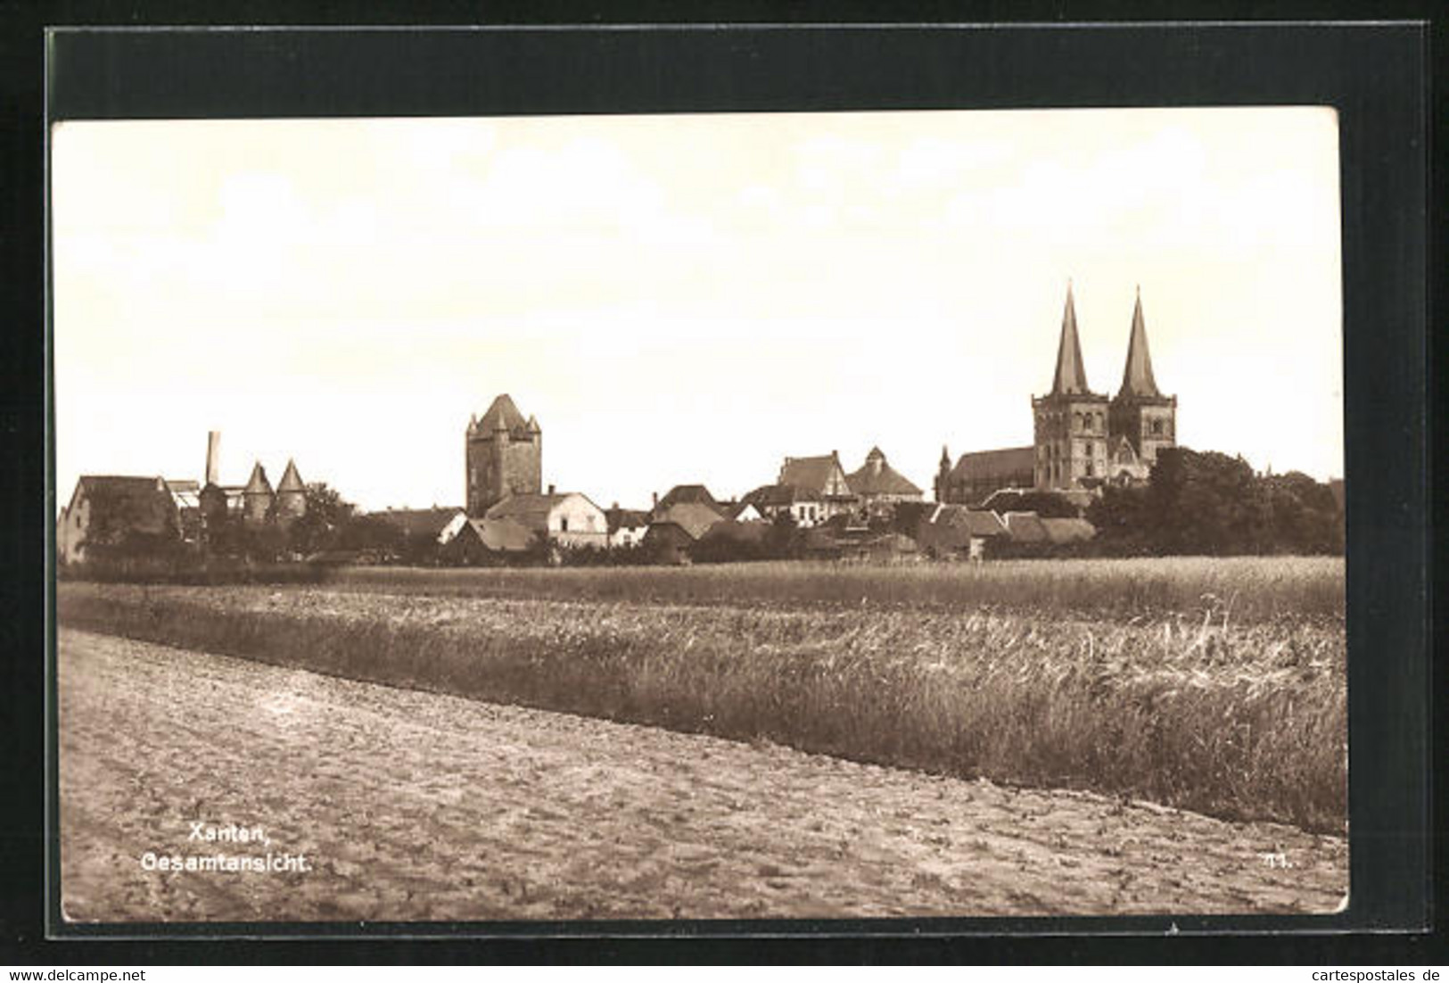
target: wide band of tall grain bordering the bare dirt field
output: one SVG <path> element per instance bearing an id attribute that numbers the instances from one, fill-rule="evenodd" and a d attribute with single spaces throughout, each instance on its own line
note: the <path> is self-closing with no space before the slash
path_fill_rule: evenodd
<path id="1" fill-rule="evenodd" d="M 556 571 L 554 571 L 556 573 Z M 62 625 L 1342 832 L 1342 625 L 62 584 Z"/>

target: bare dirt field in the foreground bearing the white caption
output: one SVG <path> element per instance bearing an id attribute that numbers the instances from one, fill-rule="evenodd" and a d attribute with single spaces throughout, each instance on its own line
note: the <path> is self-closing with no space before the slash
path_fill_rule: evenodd
<path id="1" fill-rule="evenodd" d="M 1348 883 L 1346 842 L 1291 826 L 77 631 L 59 752 L 72 921 L 1326 912 Z M 194 822 L 268 842 L 193 841 Z M 309 870 L 142 867 L 216 851 Z"/>

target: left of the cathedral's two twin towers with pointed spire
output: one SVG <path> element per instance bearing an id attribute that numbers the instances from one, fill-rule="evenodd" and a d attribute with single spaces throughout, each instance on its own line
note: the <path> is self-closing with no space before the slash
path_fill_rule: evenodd
<path id="1" fill-rule="evenodd" d="M 1066 310 L 1062 313 L 1052 391 L 1032 397 L 1032 413 L 1037 489 L 1075 489 L 1081 487 L 1082 478 L 1107 474 L 1107 397 L 1087 387 L 1071 281 L 1066 283 Z"/>

